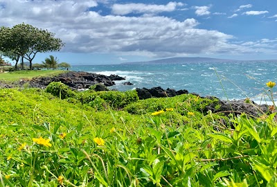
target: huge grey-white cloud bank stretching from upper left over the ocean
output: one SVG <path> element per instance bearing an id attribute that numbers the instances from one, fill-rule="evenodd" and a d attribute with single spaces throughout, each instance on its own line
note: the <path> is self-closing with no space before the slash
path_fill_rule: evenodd
<path id="1" fill-rule="evenodd" d="M 62 52 L 70 53 L 165 57 L 252 50 L 249 45 L 231 44 L 232 35 L 197 28 L 199 22 L 193 18 L 179 21 L 157 15 L 101 15 L 98 3 L 100 1 L 7 0 L 0 8 L 0 24 L 15 26 L 24 22 L 48 29 L 65 42 Z M 210 14 L 208 7 L 196 9 L 199 10 L 198 15 Z"/>

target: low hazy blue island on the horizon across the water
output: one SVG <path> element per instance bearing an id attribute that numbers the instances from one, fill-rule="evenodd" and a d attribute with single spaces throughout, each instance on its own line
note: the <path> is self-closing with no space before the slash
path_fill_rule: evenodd
<path id="1" fill-rule="evenodd" d="M 121 64 L 180 64 L 184 62 L 277 62 L 277 60 L 231 60 L 211 57 L 170 57 L 160 60 L 151 60 L 144 62 L 123 62 Z"/>

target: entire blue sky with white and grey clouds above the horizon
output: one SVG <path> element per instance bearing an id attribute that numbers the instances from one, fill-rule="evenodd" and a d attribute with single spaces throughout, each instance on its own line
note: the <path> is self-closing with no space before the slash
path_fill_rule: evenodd
<path id="1" fill-rule="evenodd" d="M 277 59 L 276 0 L 0 0 L 0 26 L 30 24 L 62 39 L 71 65 L 166 57 Z"/>

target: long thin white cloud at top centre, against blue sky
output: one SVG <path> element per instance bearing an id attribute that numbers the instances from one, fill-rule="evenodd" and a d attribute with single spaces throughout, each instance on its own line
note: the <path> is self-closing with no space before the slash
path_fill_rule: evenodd
<path id="1" fill-rule="evenodd" d="M 114 4 L 111 7 L 115 15 L 127 15 L 129 13 L 158 13 L 172 12 L 177 6 L 184 6 L 184 3 L 169 2 L 166 5 L 148 5 L 143 3 Z"/>

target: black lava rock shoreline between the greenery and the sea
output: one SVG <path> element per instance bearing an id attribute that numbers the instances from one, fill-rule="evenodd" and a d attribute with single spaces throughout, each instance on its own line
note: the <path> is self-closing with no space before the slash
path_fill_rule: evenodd
<path id="1" fill-rule="evenodd" d="M 106 87 L 112 86 L 115 84 L 115 80 L 125 80 L 125 78 L 118 75 L 100 75 L 96 73 L 88 73 L 83 71 L 69 71 L 62 73 L 60 75 L 55 75 L 53 77 L 41 77 L 33 78 L 32 80 L 19 80 L 16 82 L 0 82 L 0 88 L 13 88 L 13 87 L 34 87 L 45 89 L 47 85 L 51 82 L 62 82 L 68 85 L 73 90 L 78 89 L 87 89 L 94 84 L 104 84 Z M 124 82 L 123 82 L 124 84 Z M 126 84 L 132 84 L 132 82 L 127 82 Z M 105 89 L 100 89 L 105 90 Z M 174 97 L 181 94 L 189 94 L 186 89 L 176 91 L 175 89 L 162 89 L 161 87 L 153 87 L 151 89 L 137 88 L 139 99 L 146 98 L 164 98 L 164 97 Z M 193 94 L 193 93 L 190 93 Z M 194 94 L 197 95 L 197 94 Z M 198 95 L 197 95 L 198 96 Z M 203 98 L 203 97 L 202 97 Z M 214 98 L 207 96 L 205 98 Z M 218 98 L 217 98 L 218 99 Z M 220 100 L 218 99 L 221 107 L 217 109 L 215 105 L 209 105 L 205 107 L 205 111 L 211 110 L 211 112 L 223 112 L 228 115 L 230 113 L 241 114 L 246 113 L 251 116 L 260 116 L 260 114 L 267 112 L 267 105 L 258 105 L 250 101 L 246 103 L 245 100 Z"/>

